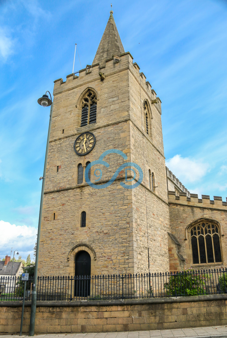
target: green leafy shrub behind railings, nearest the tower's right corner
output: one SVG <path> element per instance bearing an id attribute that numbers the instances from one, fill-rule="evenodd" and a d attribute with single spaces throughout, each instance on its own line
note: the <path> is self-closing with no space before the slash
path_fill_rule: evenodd
<path id="1" fill-rule="evenodd" d="M 186 269 L 175 275 L 169 276 L 169 282 L 164 284 L 167 295 L 195 296 L 206 294 L 206 274 L 195 273 L 192 269 Z"/>

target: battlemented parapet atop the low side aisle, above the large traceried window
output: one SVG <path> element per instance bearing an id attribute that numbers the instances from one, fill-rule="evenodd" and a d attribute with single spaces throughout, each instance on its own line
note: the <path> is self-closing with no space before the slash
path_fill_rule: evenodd
<path id="1" fill-rule="evenodd" d="M 187 197 L 187 193 L 179 193 L 179 196 L 176 196 L 175 191 L 168 191 L 168 202 L 185 204 L 188 206 L 198 206 L 202 208 L 218 208 L 227 210 L 227 197 L 226 201 L 222 200 L 221 196 L 213 196 L 213 200 L 210 199 L 209 195 L 202 195 L 202 198 L 198 198 L 197 194 L 190 194 L 190 197 Z"/>

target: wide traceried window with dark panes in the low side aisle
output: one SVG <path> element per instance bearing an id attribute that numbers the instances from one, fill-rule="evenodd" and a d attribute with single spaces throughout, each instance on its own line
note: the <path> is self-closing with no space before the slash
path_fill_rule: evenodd
<path id="1" fill-rule="evenodd" d="M 190 229 L 193 264 L 222 262 L 220 228 L 209 221 L 201 221 Z"/>

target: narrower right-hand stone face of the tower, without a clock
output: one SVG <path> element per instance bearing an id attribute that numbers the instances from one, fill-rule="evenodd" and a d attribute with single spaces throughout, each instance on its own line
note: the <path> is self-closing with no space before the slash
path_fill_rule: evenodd
<path id="1" fill-rule="evenodd" d="M 169 212 L 163 150 L 161 105 L 139 67 L 129 60 L 131 161 L 143 170 L 142 184 L 133 189 L 134 262 L 137 272 L 168 271 Z M 149 105 L 146 132 L 143 103 Z M 157 102 L 158 103 L 154 103 Z M 154 191 L 149 180 L 154 173 Z M 149 260 L 148 260 L 149 249 Z"/>

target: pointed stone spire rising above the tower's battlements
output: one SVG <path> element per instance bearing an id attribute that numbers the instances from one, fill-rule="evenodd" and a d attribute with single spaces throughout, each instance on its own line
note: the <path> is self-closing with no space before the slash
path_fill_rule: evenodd
<path id="1" fill-rule="evenodd" d="M 124 53 L 124 47 L 114 22 L 113 11 L 111 10 L 109 20 L 99 43 L 92 65 L 99 63 L 100 67 L 105 67 L 106 60 L 113 57 L 113 55 L 120 56 L 122 53 Z"/>

